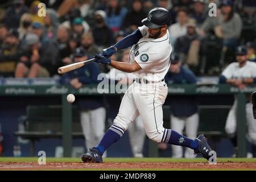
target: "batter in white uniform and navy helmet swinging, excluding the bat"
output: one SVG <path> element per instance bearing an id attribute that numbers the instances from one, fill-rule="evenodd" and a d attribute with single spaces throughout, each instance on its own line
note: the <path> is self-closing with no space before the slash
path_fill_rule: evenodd
<path id="1" fill-rule="evenodd" d="M 163 127 L 162 105 L 168 93 L 164 76 L 170 67 L 172 51 L 167 30 L 167 23 L 170 19 L 171 15 L 168 10 L 152 9 L 147 18 L 142 20 L 144 26 L 95 56 L 97 63 L 109 64 L 123 72 L 134 72 L 137 78 L 123 96 L 113 125 L 106 131 L 97 146 L 81 156 L 83 162 L 102 163 L 102 154 L 105 150 L 122 137 L 127 127 L 139 115 L 147 137 L 151 140 L 189 147 L 194 150 L 195 154 L 201 154 L 206 159 L 210 158 L 209 152 L 212 149 L 204 135 L 190 139 Z M 119 49 L 130 46 L 133 46 L 129 56 L 130 63 L 108 58 Z"/>

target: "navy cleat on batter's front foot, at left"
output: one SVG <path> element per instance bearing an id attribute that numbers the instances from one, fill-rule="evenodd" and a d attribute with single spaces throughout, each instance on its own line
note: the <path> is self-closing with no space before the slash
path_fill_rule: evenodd
<path id="1" fill-rule="evenodd" d="M 102 163 L 102 155 L 98 148 L 90 148 L 90 151 L 81 156 L 82 162 L 84 163 Z"/>

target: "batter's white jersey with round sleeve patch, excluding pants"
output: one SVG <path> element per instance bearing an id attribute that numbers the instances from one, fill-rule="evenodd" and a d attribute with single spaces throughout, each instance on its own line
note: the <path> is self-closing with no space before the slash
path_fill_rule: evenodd
<path id="1" fill-rule="evenodd" d="M 160 81 L 170 67 L 172 47 L 169 42 L 169 32 L 159 39 L 148 38 L 148 28 L 139 27 L 143 38 L 131 48 L 129 61 L 134 60 L 141 66 L 141 70 L 134 72 L 138 77 L 148 81 Z"/>

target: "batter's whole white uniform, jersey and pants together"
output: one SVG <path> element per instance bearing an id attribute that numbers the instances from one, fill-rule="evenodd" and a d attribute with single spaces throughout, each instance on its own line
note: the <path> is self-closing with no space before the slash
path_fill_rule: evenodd
<path id="1" fill-rule="evenodd" d="M 143 38 L 131 48 L 129 61 L 134 60 L 141 70 L 134 75 L 149 81 L 135 81 L 122 98 L 119 113 L 110 127 L 122 137 L 122 134 L 140 115 L 147 137 L 155 142 L 168 142 L 171 132 L 163 127 L 162 105 L 166 100 L 168 88 L 162 81 L 170 67 L 172 48 L 169 43 L 169 32 L 159 39 L 148 38 L 148 28 L 139 27 Z M 117 131 L 121 129 L 121 133 Z"/>

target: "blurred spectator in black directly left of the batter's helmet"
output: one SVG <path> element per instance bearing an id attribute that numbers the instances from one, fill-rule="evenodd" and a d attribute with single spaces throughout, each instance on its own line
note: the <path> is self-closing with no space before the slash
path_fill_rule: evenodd
<path id="1" fill-rule="evenodd" d="M 146 17 L 147 14 L 144 13 L 142 9 L 142 1 L 133 0 L 131 10 L 126 14 L 125 21 L 123 21 L 122 29 L 128 32 L 133 32 L 143 25 L 141 20 Z"/>

